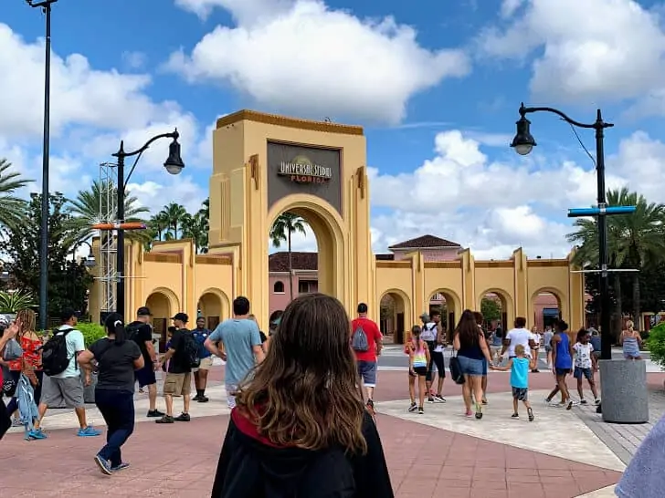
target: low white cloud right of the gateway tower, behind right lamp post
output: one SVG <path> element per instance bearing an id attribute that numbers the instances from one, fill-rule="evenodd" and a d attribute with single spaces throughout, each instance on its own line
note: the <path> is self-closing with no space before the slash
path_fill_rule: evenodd
<path id="1" fill-rule="evenodd" d="M 567 209 L 596 202 L 596 171 L 572 161 L 490 161 L 480 142 L 459 130 L 439 133 L 435 156 L 412 172 L 370 169 L 375 251 L 424 233 L 470 247 L 477 258 L 563 257 L 573 231 Z M 636 132 L 607 157 L 607 188 L 628 186 L 665 202 L 665 143 Z M 402 192 L 396 196 L 393 192 Z"/>

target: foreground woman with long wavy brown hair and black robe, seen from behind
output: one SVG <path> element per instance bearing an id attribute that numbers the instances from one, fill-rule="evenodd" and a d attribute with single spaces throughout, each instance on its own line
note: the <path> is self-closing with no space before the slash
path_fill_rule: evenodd
<path id="1" fill-rule="evenodd" d="M 331 296 L 287 306 L 266 358 L 238 387 L 213 498 L 393 498 L 349 323 Z"/>

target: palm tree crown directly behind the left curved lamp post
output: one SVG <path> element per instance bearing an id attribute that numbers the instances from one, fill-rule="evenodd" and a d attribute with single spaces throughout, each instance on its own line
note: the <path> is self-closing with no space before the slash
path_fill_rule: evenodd
<path id="1" fill-rule="evenodd" d="M 92 182 L 89 190 L 79 191 L 76 199 L 69 200 L 67 212 L 71 216 L 66 222 L 66 232 L 71 233 L 69 244 L 79 244 L 79 242 L 90 239 L 95 233 L 92 225 L 100 222 L 115 221 L 116 213 L 111 213 L 111 220 L 100 220 L 102 206 L 102 192 L 109 189 L 109 184 L 95 180 Z M 111 195 L 117 197 L 117 187 L 111 186 Z M 125 196 L 125 221 L 132 223 L 141 223 L 144 220 L 140 216 L 142 213 L 148 213 L 148 209 L 136 205 L 138 200 L 132 195 Z M 146 243 L 152 239 L 151 233 L 147 230 L 128 230 L 124 233 L 125 239 Z"/>

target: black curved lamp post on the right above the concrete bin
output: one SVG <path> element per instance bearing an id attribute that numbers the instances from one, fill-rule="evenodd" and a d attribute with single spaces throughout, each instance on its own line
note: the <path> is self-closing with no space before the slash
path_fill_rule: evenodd
<path id="1" fill-rule="evenodd" d="M 603 120 L 603 117 L 600 114 L 600 109 L 596 111 L 596 121 L 591 124 L 580 123 L 575 121 L 575 119 L 568 118 L 563 112 L 557 109 L 552 108 L 527 108 L 524 107 L 524 104 L 520 106 L 520 120 L 517 121 L 517 134 L 515 138 L 512 139 L 511 147 L 515 151 L 525 156 L 533 150 L 536 143 L 533 140 L 531 130 L 529 127 L 531 121 L 526 119 L 526 115 L 539 112 L 553 112 L 554 114 L 564 119 L 565 122 L 570 123 L 571 125 L 577 128 L 586 128 L 591 130 L 596 130 L 596 183 L 597 183 L 597 197 L 598 197 L 598 206 L 597 212 L 595 213 L 598 217 L 598 272 L 600 275 L 600 327 L 601 327 L 601 358 L 602 359 L 612 359 L 612 343 L 611 335 L 609 332 L 609 281 L 608 281 L 608 268 L 607 268 L 607 199 L 605 192 L 605 150 L 603 147 L 603 141 L 605 138 L 604 130 L 606 128 L 612 128 L 614 125 L 612 123 L 607 123 Z M 586 213 L 588 216 L 589 213 Z"/>

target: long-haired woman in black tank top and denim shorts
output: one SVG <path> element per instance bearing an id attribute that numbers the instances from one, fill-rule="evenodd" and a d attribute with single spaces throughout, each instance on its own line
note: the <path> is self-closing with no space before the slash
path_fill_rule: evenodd
<path id="1" fill-rule="evenodd" d="M 472 415 L 471 395 L 473 395 L 476 419 L 482 419 L 482 375 L 485 366 L 483 359 L 487 361 L 487 365 L 490 365 L 491 356 L 485 335 L 469 309 L 465 309 L 459 318 L 458 326 L 453 333 L 453 347 L 458 352 L 459 367 L 464 374 L 462 395 L 467 409 L 466 416 Z"/>

